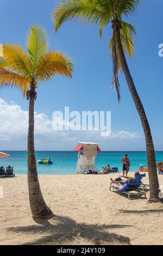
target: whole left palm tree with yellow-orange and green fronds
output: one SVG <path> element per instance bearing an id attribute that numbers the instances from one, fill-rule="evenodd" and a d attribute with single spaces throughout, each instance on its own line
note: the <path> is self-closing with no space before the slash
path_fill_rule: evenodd
<path id="1" fill-rule="evenodd" d="M 71 77 L 73 64 L 70 57 L 48 49 L 47 32 L 40 25 L 30 27 L 27 35 L 27 50 L 20 45 L 4 44 L 0 59 L 1 87 L 22 89 L 29 100 L 28 128 L 28 189 L 33 217 L 50 218 L 53 212 L 43 200 L 34 149 L 34 102 L 39 81 L 48 81 L 54 75 Z"/>

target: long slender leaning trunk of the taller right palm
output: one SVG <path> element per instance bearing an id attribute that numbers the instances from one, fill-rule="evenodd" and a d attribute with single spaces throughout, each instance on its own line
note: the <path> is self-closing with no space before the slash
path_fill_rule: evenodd
<path id="1" fill-rule="evenodd" d="M 149 184 L 150 184 L 149 202 L 150 201 L 157 202 L 159 199 L 159 181 L 158 181 L 158 174 L 156 170 L 155 151 L 154 151 L 151 129 L 149 127 L 145 109 L 143 108 L 140 97 L 137 94 L 135 84 L 133 82 L 133 78 L 130 75 L 126 57 L 124 55 L 124 51 L 121 43 L 121 35 L 120 35 L 121 25 L 120 23 L 116 22 L 116 23 L 113 23 L 112 28 L 114 29 L 114 33 L 116 35 L 118 54 L 120 56 L 122 70 L 123 70 L 124 76 L 126 77 L 126 81 L 127 81 L 131 96 L 133 97 L 137 112 L 140 115 L 143 131 L 146 137 L 148 175 L 149 175 Z"/>

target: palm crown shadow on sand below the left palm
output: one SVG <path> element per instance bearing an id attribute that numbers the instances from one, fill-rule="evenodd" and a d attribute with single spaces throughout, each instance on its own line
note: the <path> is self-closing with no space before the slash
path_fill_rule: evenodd
<path id="1" fill-rule="evenodd" d="M 131 225 L 91 225 L 59 216 L 51 220 L 35 218 L 34 221 L 37 224 L 9 227 L 7 230 L 17 235 L 30 234 L 30 242 L 28 236 L 28 242 L 24 242 L 23 245 L 130 245 L 129 237 L 111 233 L 110 229 L 126 228 Z"/>

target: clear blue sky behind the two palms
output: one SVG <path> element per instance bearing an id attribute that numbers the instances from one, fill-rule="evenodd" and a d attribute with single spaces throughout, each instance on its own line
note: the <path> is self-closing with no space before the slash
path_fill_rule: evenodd
<path id="1" fill-rule="evenodd" d="M 145 140 L 139 116 L 131 99 L 123 74 L 121 82 L 121 103 L 117 102 L 115 90 L 110 89 L 112 80 L 112 62 L 108 50 L 111 35 L 110 26 L 104 30 L 103 38 L 99 39 L 98 26 L 90 26 L 80 21 L 66 22 L 57 34 L 54 34 L 50 19 L 51 11 L 57 1 L 0 1 L 0 43 L 14 42 L 26 46 L 26 33 L 29 26 L 41 23 L 46 27 L 51 48 L 69 54 L 74 61 L 73 79 L 55 77 L 51 82 L 40 84 L 37 89 L 35 111 L 52 119 L 53 111 L 111 111 L 111 130 L 117 134 L 116 139 L 99 141 L 104 150 L 145 150 Z M 127 19 L 135 26 L 135 53 L 128 59 L 131 75 L 145 107 L 156 150 L 162 150 L 162 66 L 163 58 L 158 56 L 158 46 L 163 43 L 162 35 L 162 0 L 144 0 L 134 15 Z M 21 111 L 28 111 L 28 101 L 22 98 L 21 92 L 3 89 L 0 92 L 3 104 L 15 102 Z M 12 103 L 13 106 L 15 106 Z M 24 112 L 23 112 L 24 113 Z M 8 117 L 10 119 L 10 117 Z M 5 118 L 6 122 L 7 120 Z M 20 122 L 15 118 L 14 127 Z M 20 123 L 19 123 L 20 124 Z M 13 124 L 11 124 L 13 125 Z M 18 129 L 18 128 L 17 128 Z M 121 132 L 131 135 L 118 137 Z M 46 130 L 45 130 L 46 132 Z M 5 130 L 3 130 L 5 133 Z M 132 137 L 136 133 L 136 136 Z M 2 131 L 1 131 L 2 134 Z M 26 149 L 26 135 L 14 141 L 13 134 L 1 139 L 1 149 Z M 62 136 L 60 134 L 60 136 Z M 71 138 L 69 138 L 70 136 Z M 50 136 L 51 137 L 51 136 Z M 56 137 L 43 147 L 41 135 L 37 135 L 36 149 L 71 150 L 76 140 L 83 138 L 83 133 L 74 137 L 67 133 L 67 141 L 61 143 Z M 7 138 L 5 140 L 5 138 Z M 70 140 L 69 140 L 69 139 Z M 89 140 L 89 137 L 86 137 Z M 97 140 L 92 135 L 90 139 Z M 14 142 L 14 145 L 13 145 Z M 58 148 L 56 148 L 58 147 Z"/>

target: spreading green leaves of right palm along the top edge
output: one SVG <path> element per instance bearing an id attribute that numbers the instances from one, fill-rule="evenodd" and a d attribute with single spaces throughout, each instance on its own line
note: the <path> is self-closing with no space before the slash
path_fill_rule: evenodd
<path id="1" fill-rule="evenodd" d="M 89 23 L 99 23 L 102 35 L 103 25 L 110 20 L 122 19 L 123 15 L 134 12 L 141 0 L 66 0 L 59 1 L 57 9 L 52 11 L 54 31 L 57 32 L 62 23 L 80 19 Z"/>

